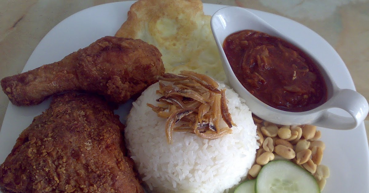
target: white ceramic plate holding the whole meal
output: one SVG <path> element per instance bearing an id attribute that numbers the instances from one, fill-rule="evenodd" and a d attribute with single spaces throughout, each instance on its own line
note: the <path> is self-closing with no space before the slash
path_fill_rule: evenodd
<path id="1" fill-rule="evenodd" d="M 38 44 L 27 61 L 23 72 L 61 60 L 64 56 L 88 46 L 97 39 L 114 35 L 127 19 L 127 11 L 134 1 L 103 4 L 91 7 L 66 18 L 56 25 Z M 205 14 L 212 15 L 225 6 L 204 4 Z M 355 89 L 352 78 L 337 52 L 317 33 L 290 19 L 250 10 L 280 32 L 290 36 L 323 61 L 337 85 Z M 222 69 L 219 69 L 222 70 Z M 4 162 L 15 144 L 18 135 L 41 114 L 50 103 L 44 101 L 37 106 L 16 107 L 9 104 L 0 131 L 0 163 Z M 130 108 L 127 103 L 117 110 L 124 121 Z M 369 150 L 364 124 L 349 131 L 318 128 L 326 144 L 323 164 L 331 171 L 324 193 L 369 192 Z"/>

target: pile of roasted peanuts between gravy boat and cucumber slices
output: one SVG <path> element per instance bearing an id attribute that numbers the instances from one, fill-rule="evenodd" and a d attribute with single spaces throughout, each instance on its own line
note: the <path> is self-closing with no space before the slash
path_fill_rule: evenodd
<path id="1" fill-rule="evenodd" d="M 314 125 L 276 125 L 253 115 L 257 125 L 255 164 L 249 169 L 247 178 L 255 179 L 263 165 L 272 160 L 290 160 L 314 175 L 321 189 L 328 178 L 329 168 L 319 165 L 323 158 L 325 144 L 318 140 L 321 132 Z"/>

